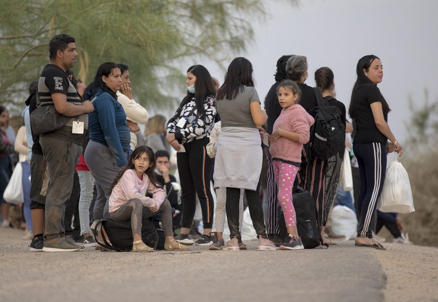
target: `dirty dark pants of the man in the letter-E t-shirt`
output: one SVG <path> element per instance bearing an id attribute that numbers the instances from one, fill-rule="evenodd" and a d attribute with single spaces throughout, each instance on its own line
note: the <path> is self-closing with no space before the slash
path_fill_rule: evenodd
<path id="1" fill-rule="evenodd" d="M 49 171 L 44 233 L 51 240 L 65 236 L 65 205 L 72 194 L 74 171 L 82 146 L 47 136 L 40 136 L 39 143 Z"/>

